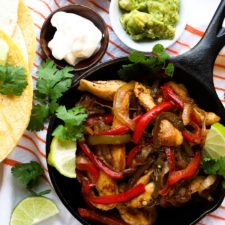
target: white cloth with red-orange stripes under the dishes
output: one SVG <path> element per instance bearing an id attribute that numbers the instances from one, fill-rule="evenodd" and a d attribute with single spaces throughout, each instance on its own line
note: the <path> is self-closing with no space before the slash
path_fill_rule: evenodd
<path id="1" fill-rule="evenodd" d="M 37 51 L 36 57 L 32 70 L 32 78 L 35 85 L 37 79 L 36 71 L 41 61 L 43 60 L 42 51 L 40 49 L 40 29 L 45 21 L 46 17 L 55 9 L 59 7 L 77 3 L 87 5 L 98 12 L 105 20 L 110 33 L 109 46 L 106 51 L 105 56 L 101 62 L 105 62 L 110 59 L 114 59 L 120 56 L 125 56 L 128 54 L 130 49 L 128 49 L 121 41 L 117 38 L 110 24 L 109 20 L 109 4 L 110 0 L 26 0 L 31 14 L 34 19 L 34 24 L 37 30 Z M 190 50 L 203 36 L 204 31 L 207 27 L 211 16 L 213 15 L 219 0 L 189 0 L 190 18 L 186 28 L 176 43 L 167 49 L 168 53 L 176 56 L 185 51 Z M 198 19 L 194 19 L 198 18 Z M 202 22 L 203 21 L 203 22 Z M 215 90 L 225 104 L 224 92 L 225 92 L 225 49 L 221 50 L 215 62 L 214 72 L 214 85 Z M 17 164 L 28 162 L 30 160 L 36 160 L 41 163 L 45 169 L 46 177 L 48 178 L 48 170 L 46 165 L 45 156 L 45 138 L 47 133 L 47 126 L 41 132 L 30 133 L 26 131 L 15 148 L 14 152 L 4 160 L 3 168 L 0 167 L 0 172 L 3 173 L 2 182 L 0 179 L 1 191 L 0 191 L 0 209 L 4 209 L 4 215 L 1 215 L 1 224 L 6 225 L 9 223 L 10 213 L 15 203 L 22 199 L 26 193 L 21 189 L 15 191 L 15 181 L 11 179 L 10 167 Z M 0 173 L 1 174 L 1 173 Z M 48 179 L 43 179 L 43 185 L 48 185 Z M 61 209 L 59 216 L 53 218 L 44 224 L 53 225 L 73 225 L 79 224 L 61 205 L 57 196 L 52 193 L 51 196 L 56 202 L 58 207 Z M 2 200 L 4 199 L 4 201 Z M 7 199 L 7 201 L 5 201 Z M 3 204 L 4 202 L 4 204 Z M 4 208 L 3 208 L 4 207 Z M 188 213 L 188 212 L 187 212 Z M 3 217 L 2 217 L 3 216 Z M 225 225 L 225 202 L 213 213 L 206 216 L 199 225 Z"/>

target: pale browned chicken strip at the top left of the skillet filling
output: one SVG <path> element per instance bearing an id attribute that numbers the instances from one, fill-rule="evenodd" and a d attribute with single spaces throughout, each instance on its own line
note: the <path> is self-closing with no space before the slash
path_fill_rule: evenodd
<path id="1" fill-rule="evenodd" d="M 112 101 L 117 89 L 124 84 L 125 82 L 121 80 L 88 81 L 85 79 L 81 79 L 78 90 L 87 91 L 102 99 Z"/>

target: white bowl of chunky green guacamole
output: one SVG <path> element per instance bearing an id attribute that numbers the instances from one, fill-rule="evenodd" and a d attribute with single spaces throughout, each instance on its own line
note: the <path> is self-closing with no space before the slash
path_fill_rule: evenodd
<path id="1" fill-rule="evenodd" d="M 187 0 L 111 0 L 109 15 L 118 38 L 129 48 L 149 53 L 155 44 L 171 46 L 186 26 Z"/>

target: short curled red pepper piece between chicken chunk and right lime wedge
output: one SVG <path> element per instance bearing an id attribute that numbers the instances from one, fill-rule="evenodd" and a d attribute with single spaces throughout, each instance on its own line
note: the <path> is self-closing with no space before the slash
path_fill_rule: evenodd
<path id="1" fill-rule="evenodd" d="M 189 143 L 200 144 L 202 141 L 202 133 L 200 127 L 197 123 L 194 122 L 191 122 L 190 125 L 195 129 L 195 132 L 192 133 L 188 130 L 182 131 L 184 139 Z"/>

